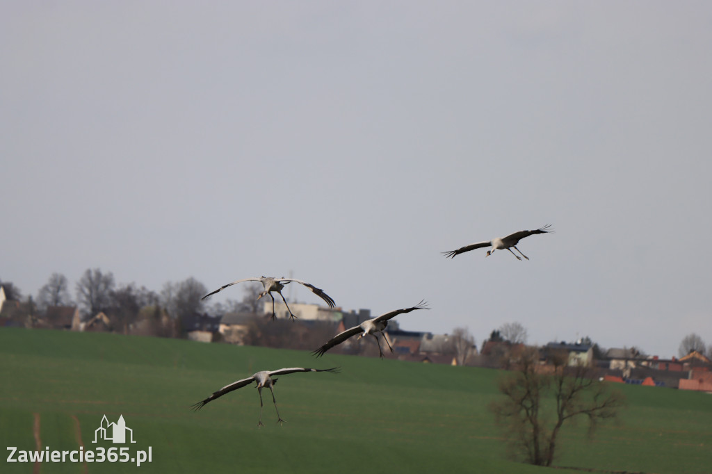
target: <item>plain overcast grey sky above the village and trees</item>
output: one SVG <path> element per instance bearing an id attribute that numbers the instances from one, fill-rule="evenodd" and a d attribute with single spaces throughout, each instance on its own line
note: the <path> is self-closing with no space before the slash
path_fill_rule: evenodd
<path id="1" fill-rule="evenodd" d="M 478 344 L 711 344 L 710 25 L 707 1 L 3 2 L 0 279 L 293 272 Z M 546 223 L 530 261 L 441 255 Z"/>

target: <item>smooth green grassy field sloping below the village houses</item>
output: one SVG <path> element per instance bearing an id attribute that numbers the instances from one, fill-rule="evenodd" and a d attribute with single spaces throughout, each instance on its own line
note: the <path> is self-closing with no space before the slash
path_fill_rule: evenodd
<path id="1" fill-rule="evenodd" d="M 340 366 L 341 374 L 280 377 L 276 423 L 269 392 L 263 428 L 253 386 L 194 404 L 263 369 Z M 0 329 L 0 445 L 110 448 L 92 443 L 104 414 L 123 415 L 152 462 L 43 463 L 41 473 L 541 473 L 506 458 L 487 405 L 500 372 L 262 347 L 49 330 Z M 645 473 L 712 472 L 712 396 L 620 386 L 629 406 L 618 423 L 587 438 L 585 423 L 562 433 L 555 464 Z M 7 463 L 2 473 L 31 473 Z M 556 470 L 557 473 L 579 472 Z"/>

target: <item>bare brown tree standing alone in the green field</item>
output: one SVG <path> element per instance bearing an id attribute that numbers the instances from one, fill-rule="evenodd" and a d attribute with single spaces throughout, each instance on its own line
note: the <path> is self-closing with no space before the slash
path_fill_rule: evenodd
<path id="1" fill-rule="evenodd" d="M 595 379 L 590 367 L 567 367 L 567 354 L 553 357 L 550 370 L 543 370 L 538 359 L 535 348 L 525 349 L 518 369 L 500 381 L 504 398 L 493 402 L 490 409 L 506 430 L 513 455 L 550 466 L 564 423 L 585 417 L 592 434 L 599 421 L 617 416 L 624 399 Z"/>

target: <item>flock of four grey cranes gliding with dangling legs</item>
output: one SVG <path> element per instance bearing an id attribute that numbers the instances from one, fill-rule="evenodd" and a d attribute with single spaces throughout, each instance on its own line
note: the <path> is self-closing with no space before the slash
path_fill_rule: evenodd
<path id="1" fill-rule="evenodd" d="M 521 260 L 522 258 L 518 256 L 516 253 L 512 251 L 512 248 L 514 248 L 515 251 L 519 252 L 519 254 L 529 260 L 528 256 L 525 256 L 518 248 L 517 244 L 519 241 L 525 237 L 528 236 L 533 236 L 534 234 L 538 233 L 550 233 L 553 232 L 553 229 L 551 228 L 551 225 L 548 224 L 546 226 L 543 226 L 542 228 L 538 228 L 535 231 L 519 231 L 512 233 L 506 237 L 497 237 L 493 238 L 491 241 L 482 241 L 482 242 L 477 242 L 477 243 L 471 243 L 467 246 L 458 248 L 457 250 L 454 251 L 449 251 L 449 252 L 443 252 L 444 256 L 449 257 L 449 258 L 454 258 L 455 256 L 469 252 L 472 250 L 475 250 L 476 248 L 483 248 L 483 247 L 491 247 L 491 250 L 487 251 L 487 255 L 491 256 L 494 251 L 496 250 L 502 250 L 502 249 L 507 249 L 512 253 L 513 256 L 517 258 L 517 260 Z M 210 297 L 211 295 L 214 295 L 215 293 L 218 293 L 225 288 L 228 288 L 229 286 L 236 285 L 237 283 L 242 283 L 245 281 L 258 281 L 262 283 L 262 286 L 264 290 L 258 295 L 257 299 L 259 300 L 261 297 L 269 295 L 269 297 L 272 298 L 272 319 L 276 317 L 275 312 L 274 312 L 274 296 L 272 293 L 278 293 L 282 297 L 282 300 L 284 301 L 284 304 L 287 307 L 287 310 L 289 311 L 289 317 L 291 318 L 292 321 L 296 319 L 296 316 L 292 313 L 292 310 L 289 309 L 289 305 L 287 304 L 287 300 L 284 298 L 282 295 L 282 290 L 285 285 L 288 285 L 289 283 L 299 283 L 300 285 L 304 285 L 306 288 L 308 288 L 312 293 L 320 297 L 322 300 L 326 302 L 329 307 L 334 307 L 335 303 L 332 297 L 324 293 L 324 290 L 321 288 L 316 288 L 314 285 L 310 285 L 310 283 L 306 283 L 305 281 L 302 280 L 295 280 L 294 278 L 272 278 L 272 277 L 265 277 L 262 276 L 260 278 L 243 278 L 241 280 L 236 280 L 232 283 L 228 283 L 227 285 L 223 285 L 217 290 L 208 293 L 204 297 L 202 297 L 202 300 L 205 300 L 207 297 Z M 321 357 L 323 356 L 329 349 L 332 347 L 335 347 L 345 340 L 349 339 L 350 337 L 353 337 L 355 335 L 358 335 L 357 339 L 361 339 L 362 337 L 366 337 L 367 335 L 372 335 L 376 339 L 376 344 L 378 346 L 378 352 L 379 356 L 381 359 L 383 358 L 383 351 L 381 350 L 381 344 L 380 341 L 377 337 L 377 334 L 380 333 L 382 339 L 386 342 L 388 348 L 390 349 L 391 352 L 393 352 L 393 348 L 388 342 L 387 337 L 383 335 L 383 331 L 386 329 L 388 325 L 388 320 L 391 320 L 392 318 L 396 317 L 397 315 L 402 315 L 407 312 L 411 312 L 414 310 L 429 310 L 430 308 L 427 305 L 427 302 L 422 300 L 419 302 L 417 305 L 412 306 L 412 307 L 407 307 L 407 308 L 402 308 L 400 310 L 393 310 L 390 312 L 385 312 L 384 314 L 374 317 L 370 320 L 362 322 L 358 326 L 351 327 L 350 329 L 345 330 L 344 332 L 340 332 L 339 334 L 335 335 L 331 339 L 329 339 L 327 342 L 325 342 L 321 347 L 316 349 L 315 351 L 312 352 L 312 354 L 315 357 Z M 274 398 L 274 384 L 277 383 L 277 378 L 276 376 L 278 375 L 286 375 L 286 374 L 293 374 L 294 372 L 331 372 L 331 373 L 338 373 L 340 372 L 339 367 L 332 367 L 330 369 L 307 369 L 304 367 L 291 367 L 288 369 L 278 369 L 278 370 L 262 370 L 260 372 L 257 372 L 256 374 L 253 374 L 252 376 L 246 378 L 246 379 L 241 379 L 238 381 L 234 381 L 231 384 L 228 384 L 224 386 L 223 388 L 219 389 L 218 391 L 213 392 L 211 396 L 208 398 L 199 401 L 197 404 L 194 404 L 192 408 L 197 411 L 201 408 L 203 408 L 206 404 L 209 402 L 213 401 L 214 399 L 218 399 L 219 397 L 223 396 L 224 394 L 227 394 L 233 390 L 241 389 L 244 386 L 247 386 L 251 384 L 253 381 L 256 383 L 256 389 L 257 392 L 260 396 L 260 418 L 259 421 L 257 422 L 257 426 L 264 426 L 262 423 L 262 389 L 264 387 L 267 387 L 272 394 L 272 402 L 274 404 L 274 409 L 277 412 L 277 422 L 278 423 L 283 423 L 282 417 L 279 415 L 279 410 L 277 409 L 277 401 Z"/>

